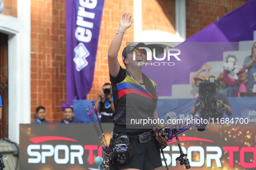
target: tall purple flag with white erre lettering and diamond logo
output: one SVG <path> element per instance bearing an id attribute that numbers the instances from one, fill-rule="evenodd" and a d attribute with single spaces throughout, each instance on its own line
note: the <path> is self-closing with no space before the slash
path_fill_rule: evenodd
<path id="1" fill-rule="evenodd" d="M 66 0 L 67 105 L 91 90 L 104 0 Z"/>

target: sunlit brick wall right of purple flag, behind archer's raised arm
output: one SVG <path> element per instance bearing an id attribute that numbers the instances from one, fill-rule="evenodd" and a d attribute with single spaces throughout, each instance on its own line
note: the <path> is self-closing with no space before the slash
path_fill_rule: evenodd
<path id="1" fill-rule="evenodd" d="M 94 80 L 90 93 L 87 95 L 88 100 L 94 100 L 98 97 L 98 91 L 102 89 L 102 85 L 109 81 L 109 72 L 107 65 L 107 51 L 113 37 L 119 28 L 120 18 L 123 12 L 129 12 L 133 15 L 133 0 L 105 0 L 100 25 L 100 36 L 94 71 Z M 134 20 L 133 20 L 134 21 Z M 122 51 L 126 47 L 126 42 L 134 41 L 133 25 L 125 32 L 121 50 L 118 54 L 119 63 L 123 65 Z"/>

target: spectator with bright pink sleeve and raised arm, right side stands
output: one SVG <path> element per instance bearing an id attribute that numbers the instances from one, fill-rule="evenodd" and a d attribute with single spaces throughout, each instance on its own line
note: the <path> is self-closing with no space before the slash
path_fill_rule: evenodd
<path id="1" fill-rule="evenodd" d="M 247 73 L 245 69 L 240 68 L 237 73 L 238 80 L 232 79 L 227 75 L 227 72 L 224 70 L 223 78 L 224 81 L 233 88 L 231 97 L 240 97 L 240 92 L 252 92 L 253 85 L 256 83 L 252 79 L 247 79 Z"/>

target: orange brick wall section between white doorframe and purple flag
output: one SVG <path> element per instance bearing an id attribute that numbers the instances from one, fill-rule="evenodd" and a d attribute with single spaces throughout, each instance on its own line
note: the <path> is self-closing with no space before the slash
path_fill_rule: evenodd
<path id="1" fill-rule="evenodd" d="M 31 121 L 37 106 L 46 108 L 46 119 L 63 118 L 66 102 L 66 0 L 31 1 Z"/>

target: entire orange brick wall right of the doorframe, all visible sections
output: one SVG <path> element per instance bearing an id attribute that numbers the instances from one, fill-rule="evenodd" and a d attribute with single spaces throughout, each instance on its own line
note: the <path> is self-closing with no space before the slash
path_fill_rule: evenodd
<path id="1" fill-rule="evenodd" d="M 10 0 L 9 0 L 10 1 Z M 13 0 L 14 1 L 14 0 Z M 31 121 L 39 105 L 46 107 L 47 120 L 63 119 L 61 104 L 66 103 L 66 38 L 65 1 L 31 1 Z M 231 2 L 232 1 L 232 2 Z M 201 30 L 217 16 L 223 16 L 248 0 L 186 0 L 187 37 Z M 143 30 L 160 30 L 175 34 L 175 0 L 142 0 Z M 219 10 L 219 11 L 217 11 Z M 98 91 L 109 81 L 107 51 L 119 28 L 123 12 L 133 15 L 133 0 L 105 0 L 94 71 L 88 100 L 96 99 Z M 206 16 L 207 15 L 207 16 Z M 136 19 L 133 19 L 135 21 Z M 126 30 L 121 52 L 126 42 L 134 41 L 133 25 Z"/>

